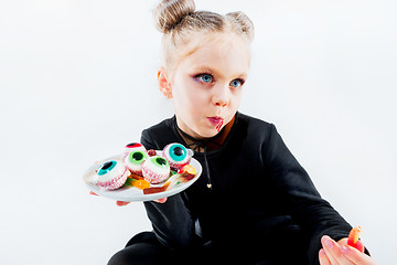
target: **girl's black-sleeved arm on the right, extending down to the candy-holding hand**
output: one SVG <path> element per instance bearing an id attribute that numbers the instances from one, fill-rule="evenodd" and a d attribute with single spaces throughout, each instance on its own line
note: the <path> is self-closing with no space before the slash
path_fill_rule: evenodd
<path id="1" fill-rule="evenodd" d="M 267 146 L 264 147 L 265 163 L 272 184 L 281 193 L 292 218 L 299 223 L 309 242 L 310 264 L 319 264 L 321 237 L 334 240 L 346 237 L 351 225 L 323 200 L 305 170 L 299 165 L 272 125 Z"/>

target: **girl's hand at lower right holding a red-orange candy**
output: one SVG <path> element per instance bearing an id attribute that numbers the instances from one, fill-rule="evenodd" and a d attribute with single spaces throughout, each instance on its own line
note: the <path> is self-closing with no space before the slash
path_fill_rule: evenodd
<path id="1" fill-rule="evenodd" d="M 330 236 L 321 239 L 323 248 L 319 252 L 321 265 L 376 265 L 374 259 L 364 254 L 364 245 L 358 241 L 358 250 L 347 245 L 347 239 L 342 239 L 337 243 Z"/>

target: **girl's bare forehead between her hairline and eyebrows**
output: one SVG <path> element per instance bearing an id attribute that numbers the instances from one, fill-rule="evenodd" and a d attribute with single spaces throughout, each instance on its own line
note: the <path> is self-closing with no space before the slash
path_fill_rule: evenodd
<path id="1" fill-rule="evenodd" d="M 201 35 L 186 46 L 180 65 L 242 75 L 248 72 L 249 56 L 249 44 L 236 34 Z"/>

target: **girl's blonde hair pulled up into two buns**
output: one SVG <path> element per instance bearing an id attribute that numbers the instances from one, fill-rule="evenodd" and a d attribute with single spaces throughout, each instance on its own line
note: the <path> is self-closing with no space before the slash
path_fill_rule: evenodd
<path id="1" fill-rule="evenodd" d="M 225 15 L 211 11 L 195 11 L 193 0 L 162 0 L 155 11 L 157 29 L 163 33 L 162 59 L 165 67 L 171 67 L 183 54 L 195 33 L 235 33 L 247 43 L 254 39 L 254 24 L 243 12 Z"/>

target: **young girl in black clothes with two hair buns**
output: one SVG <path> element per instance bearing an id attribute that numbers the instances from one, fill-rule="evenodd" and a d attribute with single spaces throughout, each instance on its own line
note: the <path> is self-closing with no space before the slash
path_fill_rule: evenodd
<path id="1" fill-rule="evenodd" d="M 195 11 L 193 0 L 163 0 L 155 18 L 159 87 L 175 115 L 143 130 L 141 144 L 189 146 L 203 173 L 182 193 L 144 202 L 153 231 L 133 236 L 109 265 L 375 264 L 362 244 L 362 252 L 346 246 L 351 225 L 320 197 L 276 127 L 237 110 L 251 21 Z"/>

